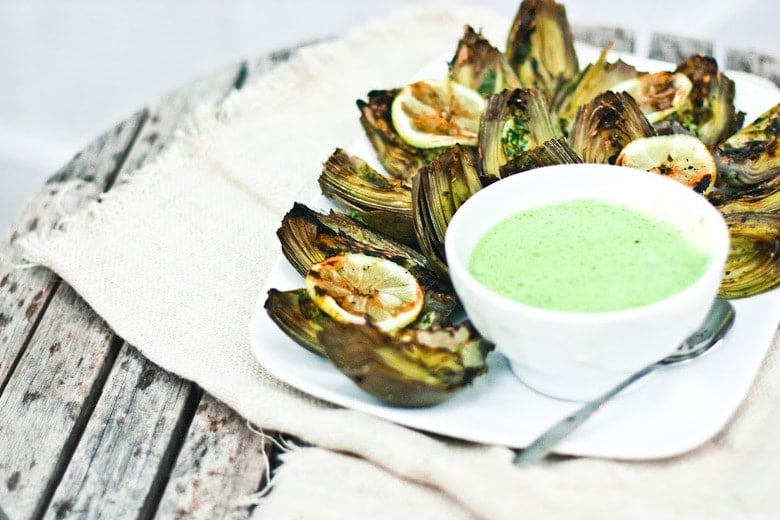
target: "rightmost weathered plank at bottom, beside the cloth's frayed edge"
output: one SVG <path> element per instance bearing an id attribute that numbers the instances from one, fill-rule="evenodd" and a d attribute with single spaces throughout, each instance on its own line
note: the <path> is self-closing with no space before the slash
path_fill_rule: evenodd
<path id="1" fill-rule="evenodd" d="M 198 405 L 162 497 L 161 518 L 249 518 L 242 504 L 264 481 L 273 444 L 252 432 L 234 411 L 209 395 Z"/>

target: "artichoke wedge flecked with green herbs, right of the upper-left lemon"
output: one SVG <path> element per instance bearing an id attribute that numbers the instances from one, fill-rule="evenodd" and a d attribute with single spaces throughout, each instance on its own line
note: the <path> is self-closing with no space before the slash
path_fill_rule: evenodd
<path id="1" fill-rule="evenodd" d="M 560 137 L 563 133 L 540 90 L 521 88 L 495 94 L 488 99 L 479 124 L 482 175 L 497 180 L 502 167 L 515 157 Z"/>

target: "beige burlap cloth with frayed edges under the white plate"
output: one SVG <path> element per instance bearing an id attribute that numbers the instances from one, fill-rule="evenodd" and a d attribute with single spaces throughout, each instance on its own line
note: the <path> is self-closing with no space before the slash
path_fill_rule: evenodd
<path id="1" fill-rule="evenodd" d="M 361 132 L 355 100 L 451 53 L 478 7 L 408 8 L 306 48 L 219 108 L 156 162 L 24 242 L 150 360 L 244 417 L 316 446 L 283 456 L 261 518 L 777 518 L 780 356 L 773 348 L 728 428 L 672 460 L 572 459 L 527 469 L 501 447 L 446 442 L 331 407 L 255 360 L 248 324 L 281 216 L 316 193 L 322 161 Z M 242 497 L 236 497 L 240 499 Z"/>

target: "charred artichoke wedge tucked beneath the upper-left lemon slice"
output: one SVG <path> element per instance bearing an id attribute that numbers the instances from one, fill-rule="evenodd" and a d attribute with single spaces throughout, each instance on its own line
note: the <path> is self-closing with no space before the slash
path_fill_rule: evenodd
<path id="1" fill-rule="evenodd" d="M 401 139 L 391 116 L 391 106 L 398 91 L 372 90 L 368 93 L 368 100 L 358 100 L 357 105 L 360 109 L 360 123 L 379 162 L 393 177 L 410 179 L 417 168 L 437 157 L 446 148 L 417 148 Z"/>

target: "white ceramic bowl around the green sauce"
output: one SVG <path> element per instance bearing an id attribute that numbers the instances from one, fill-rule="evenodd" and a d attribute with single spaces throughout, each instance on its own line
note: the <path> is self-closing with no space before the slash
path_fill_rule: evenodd
<path id="1" fill-rule="evenodd" d="M 704 274 L 680 292 L 641 307 L 564 312 L 513 301 L 469 273 L 474 247 L 496 223 L 523 209 L 573 199 L 625 204 L 673 224 L 709 252 Z M 479 191 L 455 213 L 445 249 L 466 313 L 509 359 L 514 373 L 549 396 L 588 400 L 670 354 L 696 330 L 720 285 L 729 237 L 720 213 L 676 181 L 619 166 L 579 164 L 522 172 Z"/>

